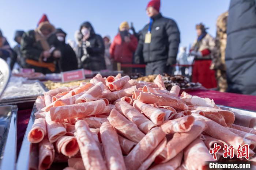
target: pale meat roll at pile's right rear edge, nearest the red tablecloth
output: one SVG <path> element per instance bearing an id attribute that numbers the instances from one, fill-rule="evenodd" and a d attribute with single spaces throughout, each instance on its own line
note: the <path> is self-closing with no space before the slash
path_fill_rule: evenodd
<path id="1" fill-rule="evenodd" d="M 180 98 L 181 98 L 181 100 L 185 101 L 188 105 L 218 108 L 215 105 L 214 101 L 211 100 L 210 98 L 202 98 L 202 97 L 198 97 L 198 96 L 192 96 L 186 92 L 182 92 Z"/>

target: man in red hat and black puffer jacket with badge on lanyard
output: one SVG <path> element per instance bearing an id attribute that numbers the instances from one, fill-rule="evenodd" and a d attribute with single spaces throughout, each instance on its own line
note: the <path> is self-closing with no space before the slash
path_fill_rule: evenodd
<path id="1" fill-rule="evenodd" d="M 172 73 L 176 63 L 180 31 L 174 20 L 159 13 L 160 0 L 151 0 L 147 5 L 150 23 L 141 31 L 139 44 L 135 51 L 135 63 L 140 63 L 143 56 L 146 75 Z"/>

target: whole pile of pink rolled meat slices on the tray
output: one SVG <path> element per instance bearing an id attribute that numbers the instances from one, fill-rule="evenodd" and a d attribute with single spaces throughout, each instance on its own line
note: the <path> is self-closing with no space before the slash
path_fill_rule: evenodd
<path id="1" fill-rule="evenodd" d="M 248 144 L 256 161 L 256 130 L 234 125 L 234 113 L 209 98 L 179 92 L 167 91 L 160 75 L 138 83 L 120 74 L 49 90 L 35 102 L 30 168 L 63 162 L 65 170 L 201 170 L 223 159 L 223 149 L 217 160 L 209 153 L 214 143 L 235 150 Z"/>

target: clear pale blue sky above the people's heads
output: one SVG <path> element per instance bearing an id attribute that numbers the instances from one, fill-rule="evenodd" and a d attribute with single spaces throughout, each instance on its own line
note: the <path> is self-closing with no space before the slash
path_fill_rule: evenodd
<path id="1" fill-rule="evenodd" d="M 98 34 L 113 39 L 119 24 L 133 22 L 136 31 L 149 19 L 146 5 L 149 0 L 1 0 L 0 29 L 11 46 L 15 30 L 31 30 L 37 26 L 43 13 L 50 22 L 67 32 L 74 40 L 74 32 L 81 23 L 90 21 Z M 215 36 L 216 19 L 228 10 L 229 0 L 161 0 L 163 16 L 176 20 L 181 32 L 180 46 L 189 46 L 196 38 L 195 24 L 203 22 Z M 66 40 L 67 40 L 66 39 Z"/>

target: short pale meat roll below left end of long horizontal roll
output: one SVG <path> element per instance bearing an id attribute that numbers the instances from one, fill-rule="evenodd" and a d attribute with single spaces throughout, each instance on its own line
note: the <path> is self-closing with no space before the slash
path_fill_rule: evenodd
<path id="1" fill-rule="evenodd" d="M 48 139 L 51 143 L 56 142 L 61 136 L 67 133 L 63 121 L 53 121 L 50 118 L 49 112 L 46 114 L 46 127 Z"/>

